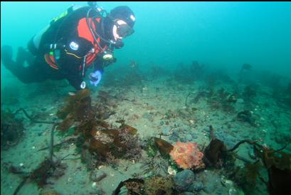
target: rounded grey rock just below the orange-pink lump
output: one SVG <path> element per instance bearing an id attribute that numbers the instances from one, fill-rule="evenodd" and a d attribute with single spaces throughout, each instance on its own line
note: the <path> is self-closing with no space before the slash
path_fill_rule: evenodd
<path id="1" fill-rule="evenodd" d="M 189 169 L 185 169 L 174 176 L 174 183 L 176 184 L 177 189 L 186 191 L 189 189 L 191 184 L 193 184 L 194 179 L 194 172 Z"/>

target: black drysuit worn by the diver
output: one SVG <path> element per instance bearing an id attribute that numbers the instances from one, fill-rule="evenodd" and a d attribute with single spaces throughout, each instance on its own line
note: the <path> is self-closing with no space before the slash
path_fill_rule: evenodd
<path id="1" fill-rule="evenodd" d="M 72 8 L 68 9 L 68 14 L 66 16 L 51 22 L 49 28 L 41 36 L 38 48 L 34 45 L 33 39 L 28 43 L 29 52 L 23 48 L 19 48 L 16 61 L 11 59 L 11 47 L 3 46 L 1 48 L 2 63 L 4 63 L 5 67 L 11 70 L 11 73 L 13 73 L 23 83 L 42 82 L 47 79 L 67 79 L 70 85 L 73 85 L 76 90 L 79 90 L 80 83 L 83 81 L 83 68 L 81 68 L 84 61 L 83 56 L 94 48 L 92 42 L 78 35 L 78 23 L 80 19 L 84 19 L 87 16 L 88 9 L 90 9 L 88 6 L 75 11 L 73 11 Z M 96 16 L 96 14 L 96 11 L 90 11 L 89 18 Z M 101 17 L 100 23 L 93 22 L 98 35 L 106 40 L 112 38 L 112 33 L 110 31 L 112 21 Z M 72 41 L 78 43 L 77 51 L 70 47 Z M 44 57 L 46 53 L 49 53 L 51 44 L 61 46 L 59 50 L 60 58 L 56 60 L 58 70 L 52 68 Z M 103 42 L 102 39 L 100 39 L 99 44 L 103 48 L 107 46 L 108 43 Z M 70 55 L 68 55 L 68 53 L 70 53 Z M 94 64 L 95 70 L 102 71 L 101 53 L 102 52 L 97 54 L 92 63 Z M 79 58 L 76 56 L 79 56 Z M 23 66 L 25 61 L 28 63 L 27 67 Z M 90 67 L 92 67 L 92 64 Z M 86 65 L 85 70 L 88 67 L 89 66 Z"/>

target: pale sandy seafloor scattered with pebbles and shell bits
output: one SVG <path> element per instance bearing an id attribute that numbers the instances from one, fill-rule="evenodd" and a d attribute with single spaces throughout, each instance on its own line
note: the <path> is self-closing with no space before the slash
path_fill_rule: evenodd
<path id="1" fill-rule="evenodd" d="M 51 81 L 51 83 L 56 83 Z M 65 83 L 65 82 L 64 82 Z M 54 84 L 53 84 L 54 85 Z M 15 98 L 18 102 L 5 105 L 11 110 L 17 110 L 23 107 L 29 115 L 38 117 L 40 120 L 53 120 L 55 113 L 63 104 L 63 98 L 68 96 L 68 90 L 72 89 L 56 86 L 53 89 L 43 89 L 44 84 L 30 84 L 8 86 L 15 88 Z M 109 92 L 115 97 L 114 110 L 115 115 L 111 115 L 106 121 L 117 125 L 115 122 L 120 118 L 125 119 L 127 125 L 131 125 L 138 130 L 139 137 L 159 137 L 163 130 L 169 135 L 163 135 L 162 139 L 174 144 L 170 139 L 174 131 L 179 131 L 181 141 L 197 142 L 199 146 L 207 145 L 210 141 L 208 126 L 213 125 L 214 134 L 222 139 L 228 147 L 232 147 L 241 139 L 263 139 L 263 143 L 273 148 L 280 148 L 285 143 L 282 139 L 282 132 L 290 134 L 291 110 L 290 107 L 278 106 L 270 95 L 270 89 L 260 86 L 258 95 L 255 98 L 253 114 L 257 116 L 258 127 L 253 127 L 248 122 L 236 120 L 236 114 L 245 109 L 243 98 L 238 97 L 238 102 L 233 104 L 235 113 L 227 113 L 222 110 L 213 110 L 206 102 L 206 98 L 201 98 L 194 103 L 194 95 L 188 99 L 187 107 L 195 107 L 194 112 L 188 112 L 185 106 L 186 95 L 197 93 L 203 82 L 184 85 L 176 83 L 174 80 L 166 81 L 166 78 L 152 81 L 142 81 L 142 85 L 132 85 L 130 87 L 108 87 L 101 85 L 92 92 L 92 102 L 98 102 L 98 90 Z M 228 85 L 221 85 L 223 88 L 230 88 Z M 221 87 L 216 86 L 216 89 Z M 243 85 L 242 85 L 243 86 Z M 55 89 L 59 88 L 56 93 Z M 5 92 L 5 88 L 3 89 Z M 2 90 L 1 90 L 2 91 Z M 122 98 L 121 98 L 122 97 Z M 132 101 L 133 100 L 133 101 Z M 2 104 L 2 100 L 1 100 Z M 169 111 L 171 110 L 171 111 Z M 172 117 L 165 117 L 166 112 L 173 113 Z M 176 114 L 175 114 L 176 113 Z M 184 114 L 184 117 L 181 115 Z M 25 135 L 21 142 L 15 147 L 1 151 L 1 194 L 13 194 L 16 186 L 21 182 L 21 177 L 16 174 L 9 174 L 4 169 L 4 163 L 19 166 L 23 164 L 24 171 L 36 169 L 39 163 L 48 156 L 48 150 L 37 152 L 38 149 L 47 147 L 50 141 L 51 125 L 31 123 L 24 115 L 18 114 L 23 118 L 25 126 Z M 60 135 L 55 135 L 55 143 L 65 139 Z M 291 151 L 291 146 L 287 151 Z M 238 154 L 250 159 L 248 156 L 250 147 L 244 144 L 238 149 Z M 73 154 L 75 145 L 61 148 L 55 152 L 57 157 L 64 157 L 67 154 Z M 58 191 L 59 194 L 112 194 L 120 181 L 139 175 L 143 171 L 142 159 L 140 162 L 129 162 L 122 160 L 120 166 L 112 168 L 110 166 L 100 167 L 97 172 L 105 172 L 107 176 L 94 184 L 90 180 L 89 172 L 85 164 L 80 159 L 64 160 L 68 164 L 65 175 L 58 180 L 49 179 L 48 185 L 44 189 L 38 189 L 36 184 L 27 182 L 18 194 L 40 194 L 41 191 Z M 237 160 L 238 164 L 243 162 Z M 226 186 L 221 184 L 221 175 L 215 169 L 199 173 L 203 175 L 203 185 L 208 185 L 208 190 L 194 192 L 194 194 L 228 194 Z M 211 185 L 213 186 L 211 189 Z M 266 189 L 261 186 L 261 193 L 266 194 Z"/>

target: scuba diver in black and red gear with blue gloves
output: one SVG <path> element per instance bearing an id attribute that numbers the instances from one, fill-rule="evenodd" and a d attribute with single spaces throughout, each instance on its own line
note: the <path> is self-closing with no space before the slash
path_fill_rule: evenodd
<path id="1" fill-rule="evenodd" d="M 88 78 L 97 86 L 103 68 L 116 61 L 113 50 L 122 48 L 122 38 L 134 33 L 134 22 L 128 6 L 117 6 L 109 14 L 93 1 L 70 6 L 31 38 L 28 51 L 18 48 L 15 61 L 11 46 L 2 46 L 1 61 L 23 83 L 67 79 L 76 90 L 86 87 L 85 72 L 93 68 Z"/>

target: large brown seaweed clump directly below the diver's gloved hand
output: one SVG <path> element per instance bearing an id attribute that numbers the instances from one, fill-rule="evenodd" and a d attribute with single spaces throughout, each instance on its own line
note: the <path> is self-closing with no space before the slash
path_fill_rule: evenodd
<path id="1" fill-rule="evenodd" d="M 117 159 L 138 160 L 141 157 L 137 130 L 119 120 L 120 127 L 112 127 L 104 119 L 105 107 L 91 105 L 90 90 L 80 90 L 58 111 L 63 122 L 58 130 L 67 131 L 73 124 L 78 136 L 78 151 L 88 167 L 95 168 L 102 162 L 115 164 Z M 78 122 L 78 123 L 75 123 Z"/>

